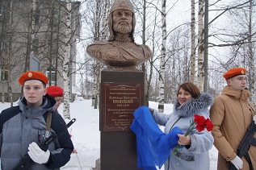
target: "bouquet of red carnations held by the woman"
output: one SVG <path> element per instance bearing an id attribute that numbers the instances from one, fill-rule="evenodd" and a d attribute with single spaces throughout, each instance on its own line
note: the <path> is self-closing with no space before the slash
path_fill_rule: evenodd
<path id="1" fill-rule="evenodd" d="M 195 114 L 193 122 L 191 122 L 191 125 L 188 127 L 187 132 L 184 136 L 187 136 L 191 133 L 191 131 L 194 131 L 195 129 L 197 131 L 204 131 L 204 129 L 207 129 L 207 131 L 212 131 L 213 124 L 209 118 L 205 119 L 204 116 L 200 116 L 198 114 Z M 179 148 L 181 147 L 180 144 L 178 144 L 173 149 L 173 154 L 176 155 Z M 182 148 L 183 149 L 183 148 Z M 180 159 L 180 157 L 179 157 Z M 179 162 L 178 162 L 179 163 Z M 178 164 L 177 164 L 178 166 Z"/>

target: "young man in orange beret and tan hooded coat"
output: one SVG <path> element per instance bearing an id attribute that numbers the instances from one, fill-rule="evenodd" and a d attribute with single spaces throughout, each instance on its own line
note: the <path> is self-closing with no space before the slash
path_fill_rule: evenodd
<path id="1" fill-rule="evenodd" d="M 226 170 L 233 164 L 237 169 L 249 170 L 245 157 L 237 156 L 237 148 L 255 114 L 246 89 L 246 68 L 229 69 L 223 77 L 227 85 L 210 109 L 214 145 L 219 151 L 217 169 Z M 251 145 L 248 153 L 251 166 L 256 169 L 256 147 Z"/>

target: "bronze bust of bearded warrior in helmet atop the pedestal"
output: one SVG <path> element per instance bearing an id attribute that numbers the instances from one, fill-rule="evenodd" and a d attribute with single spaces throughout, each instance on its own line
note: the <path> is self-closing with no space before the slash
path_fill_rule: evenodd
<path id="1" fill-rule="evenodd" d="M 108 18 L 108 40 L 90 44 L 86 51 L 108 68 L 136 68 L 153 56 L 146 45 L 134 42 L 135 15 L 129 0 L 115 0 Z"/>

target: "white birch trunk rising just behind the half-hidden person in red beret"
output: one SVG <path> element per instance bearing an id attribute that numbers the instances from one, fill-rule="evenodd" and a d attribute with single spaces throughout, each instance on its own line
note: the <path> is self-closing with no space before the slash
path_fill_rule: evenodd
<path id="1" fill-rule="evenodd" d="M 69 64 L 70 64 L 70 39 L 71 39 L 71 0 L 66 0 L 66 31 L 65 31 L 65 58 L 63 63 L 63 79 L 64 79 L 64 103 L 63 117 L 70 119 L 69 112 Z"/>

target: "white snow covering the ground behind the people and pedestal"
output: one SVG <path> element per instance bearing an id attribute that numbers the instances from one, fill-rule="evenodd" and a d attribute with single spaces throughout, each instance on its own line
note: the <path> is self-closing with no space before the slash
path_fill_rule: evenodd
<path id="1" fill-rule="evenodd" d="M 16 104 L 15 104 L 16 105 Z M 149 106 L 157 109 L 156 102 L 149 102 Z M 165 105 L 165 113 L 172 111 L 171 104 Z M 10 103 L 0 103 L 0 111 L 10 107 Z M 59 112 L 62 114 L 62 105 Z M 91 106 L 91 100 L 79 100 L 70 103 L 70 116 L 76 122 L 69 127 L 72 141 L 78 154 L 72 154 L 71 160 L 61 170 L 90 170 L 95 167 L 95 160 L 99 159 L 99 110 Z M 69 120 L 66 120 L 69 122 Z M 210 170 L 216 170 L 217 150 L 210 150 Z M 164 168 L 162 167 L 161 170 Z"/>

